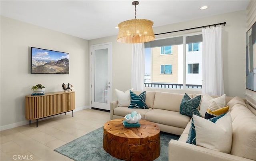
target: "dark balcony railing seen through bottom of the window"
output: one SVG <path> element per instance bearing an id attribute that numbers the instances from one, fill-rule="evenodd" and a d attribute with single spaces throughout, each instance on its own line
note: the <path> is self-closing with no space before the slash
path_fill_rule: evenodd
<path id="1" fill-rule="evenodd" d="M 168 84 L 168 83 L 144 83 L 145 87 L 157 87 L 157 88 L 174 88 L 183 89 L 183 84 Z M 186 84 L 187 88 L 202 88 L 202 85 L 198 84 Z"/>

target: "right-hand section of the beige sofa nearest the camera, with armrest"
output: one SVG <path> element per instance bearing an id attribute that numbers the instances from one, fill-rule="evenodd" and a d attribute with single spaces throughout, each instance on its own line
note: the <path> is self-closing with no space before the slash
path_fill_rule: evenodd
<path id="1" fill-rule="evenodd" d="M 227 101 L 232 118 L 231 153 L 222 153 L 205 147 L 186 143 L 191 120 L 179 140 L 169 142 L 169 161 L 250 161 L 256 160 L 255 109 L 244 99 L 234 97 Z M 248 109 L 248 107 L 250 109 Z M 181 155 L 182 154 L 182 155 Z"/>

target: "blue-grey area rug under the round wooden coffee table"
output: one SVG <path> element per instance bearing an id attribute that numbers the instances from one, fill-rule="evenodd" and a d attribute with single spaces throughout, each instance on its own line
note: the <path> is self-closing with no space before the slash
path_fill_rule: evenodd
<path id="1" fill-rule="evenodd" d="M 160 132 L 161 151 L 155 161 L 168 161 L 168 143 L 171 139 L 178 140 L 179 135 Z M 112 157 L 103 147 L 103 127 L 81 136 L 57 149 L 58 153 L 75 161 L 121 161 Z"/>

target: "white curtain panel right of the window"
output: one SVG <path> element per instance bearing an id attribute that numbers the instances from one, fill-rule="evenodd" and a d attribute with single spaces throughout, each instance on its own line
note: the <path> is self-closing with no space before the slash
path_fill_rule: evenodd
<path id="1" fill-rule="evenodd" d="M 222 26 L 206 27 L 203 35 L 202 94 L 223 95 Z"/>

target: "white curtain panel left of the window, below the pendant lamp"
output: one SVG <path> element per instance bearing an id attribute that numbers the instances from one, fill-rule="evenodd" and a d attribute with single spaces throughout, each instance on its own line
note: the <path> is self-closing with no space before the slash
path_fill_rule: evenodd
<path id="1" fill-rule="evenodd" d="M 134 90 L 144 90 L 144 71 L 144 43 L 132 44 L 132 87 Z"/>

